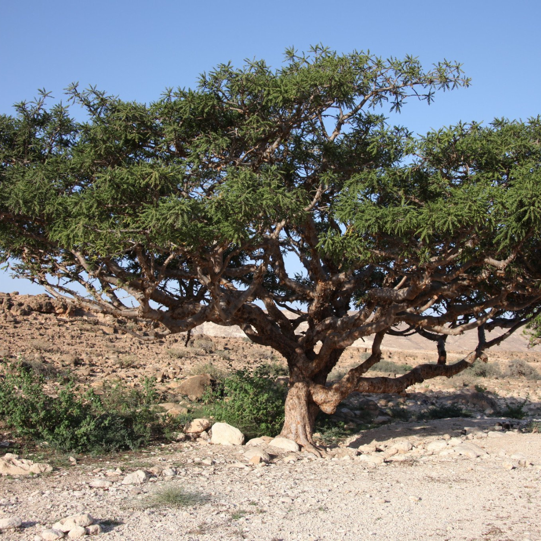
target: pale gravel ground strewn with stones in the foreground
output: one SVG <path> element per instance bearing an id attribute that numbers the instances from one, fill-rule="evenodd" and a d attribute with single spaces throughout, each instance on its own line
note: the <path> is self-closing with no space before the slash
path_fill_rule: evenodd
<path id="1" fill-rule="evenodd" d="M 3 477 L 0 519 L 19 516 L 23 527 L 0 539 L 34 540 L 82 511 L 101 522 L 98 538 L 123 541 L 541 539 L 541 434 L 495 434 L 492 425 L 494 419 L 396 423 L 361 433 L 326 459 L 263 446 L 271 463 L 248 465 L 245 447 L 183 443 L 86 459 L 33 478 Z M 473 428 L 469 436 L 466 426 Z M 434 440 L 448 445 L 431 454 Z M 460 455 L 453 446 L 463 442 L 487 454 Z M 404 452 L 408 443 L 413 448 Z M 516 453 L 526 457 L 526 467 Z M 111 475 L 117 467 L 122 474 Z M 164 477 L 168 468 L 176 474 Z M 157 475 L 122 484 L 137 469 Z M 91 487 L 98 479 L 113 484 Z M 204 499 L 178 509 L 147 507 L 163 487 Z"/>

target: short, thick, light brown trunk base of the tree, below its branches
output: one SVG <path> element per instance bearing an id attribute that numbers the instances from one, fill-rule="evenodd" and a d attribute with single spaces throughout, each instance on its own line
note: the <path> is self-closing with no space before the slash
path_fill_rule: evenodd
<path id="1" fill-rule="evenodd" d="M 308 450 L 315 449 L 312 434 L 318 412 L 319 406 L 312 400 L 308 384 L 295 382 L 287 393 L 285 421 L 280 436 L 296 441 Z"/>

